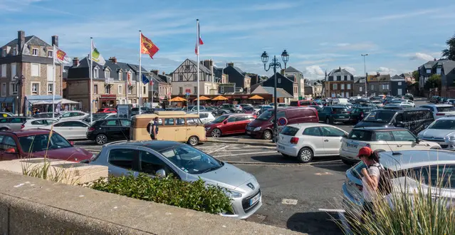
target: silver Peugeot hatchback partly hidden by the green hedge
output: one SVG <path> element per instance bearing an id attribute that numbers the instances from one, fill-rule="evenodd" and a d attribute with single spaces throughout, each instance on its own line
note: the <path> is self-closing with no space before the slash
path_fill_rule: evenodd
<path id="1" fill-rule="evenodd" d="M 231 197 L 234 214 L 223 216 L 246 219 L 262 206 L 261 189 L 252 174 L 179 142 L 113 142 L 104 145 L 90 164 L 108 166 L 115 176 L 144 172 L 150 177 L 172 173 L 187 182 L 200 178 L 226 189 Z"/>

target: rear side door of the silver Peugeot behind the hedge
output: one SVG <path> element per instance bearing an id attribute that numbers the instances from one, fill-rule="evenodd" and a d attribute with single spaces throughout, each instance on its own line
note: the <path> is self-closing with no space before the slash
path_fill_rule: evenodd
<path id="1" fill-rule="evenodd" d="M 108 173 L 113 176 L 122 176 L 138 172 L 139 151 L 130 147 L 113 147 L 108 152 Z"/>

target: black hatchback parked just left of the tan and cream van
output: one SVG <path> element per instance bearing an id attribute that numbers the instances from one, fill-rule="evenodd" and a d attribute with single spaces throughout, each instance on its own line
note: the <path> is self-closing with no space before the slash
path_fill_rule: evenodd
<path id="1" fill-rule="evenodd" d="M 88 128 L 87 139 L 104 145 L 113 140 L 130 140 L 131 120 L 127 118 L 110 118 L 93 122 Z"/>

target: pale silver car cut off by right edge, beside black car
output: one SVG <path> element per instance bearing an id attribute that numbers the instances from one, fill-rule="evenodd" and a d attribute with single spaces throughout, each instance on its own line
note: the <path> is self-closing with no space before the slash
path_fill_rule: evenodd
<path id="1" fill-rule="evenodd" d="M 419 139 L 436 142 L 443 150 L 455 150 L 455 117 L 441 117 L 417 135 Z"/>

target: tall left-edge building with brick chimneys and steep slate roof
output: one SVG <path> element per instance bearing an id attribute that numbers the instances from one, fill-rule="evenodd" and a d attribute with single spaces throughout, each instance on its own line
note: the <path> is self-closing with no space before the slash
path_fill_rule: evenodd
<path id="1" fill-rule="evenodd" d="M 58 46 L 58 36 L 52 36 L 51 40 Z M 33 105 L 27 97 L 43 95 L 44 100 L 52 100 L 54 93 L 61 97 L 62 66 L 56 64 L 53 68 L 53 45 L 18 31 L 17 38 L 0 48 L 1 110 L 14 113 L 21 110 L 20 113 L 27 114 Z"/>

